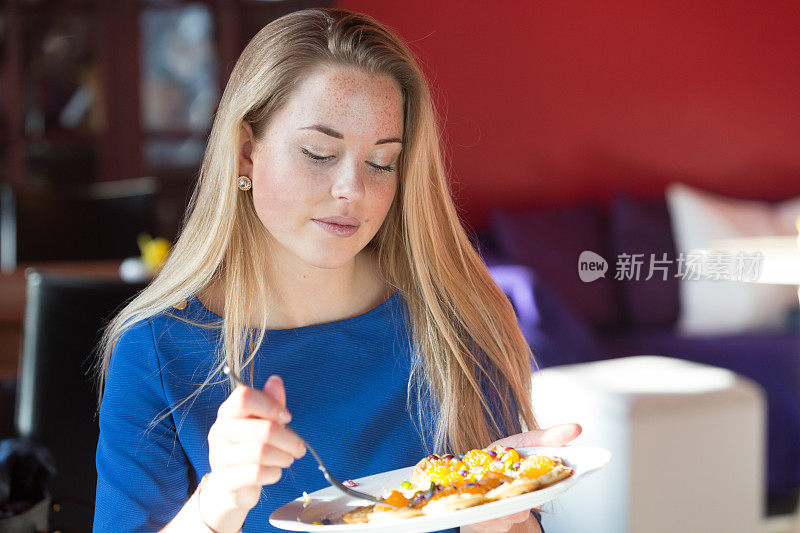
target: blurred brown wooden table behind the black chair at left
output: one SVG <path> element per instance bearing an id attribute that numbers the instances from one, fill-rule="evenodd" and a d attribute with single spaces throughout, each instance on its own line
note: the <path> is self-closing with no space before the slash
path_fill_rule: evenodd
<path id="1" fill-rule="evenodd" d="M 12 272 L 0 273 L 0 379 L 17 375 L 25 315 L 25 271 L 95 279 L 120 279 L 122 261 L 23 263 Z"/>

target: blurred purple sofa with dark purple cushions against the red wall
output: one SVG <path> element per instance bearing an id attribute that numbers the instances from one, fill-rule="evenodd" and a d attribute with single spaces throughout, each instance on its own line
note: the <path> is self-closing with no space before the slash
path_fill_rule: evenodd
<path id="1" fill-rule="evenodd" d="M 614 279 L 620 253 L 676 257 L 663 200 L 617 197 L 582 205 L 496 211 L 479 247 L 517 311 L 541 368 L 627 355 L 664 355 L 728 368 L 759 383 L 768 405 L 768 509 L 800 494 L 800 332 L 684 337 L 675 332 L 679 279 Z M 604 278 L 583 282 L 578 257 L 604 257 Z M 646 262 L 647 263 L 647 262 Z M 643 276 L 646 277 L 646 276 Z"/>

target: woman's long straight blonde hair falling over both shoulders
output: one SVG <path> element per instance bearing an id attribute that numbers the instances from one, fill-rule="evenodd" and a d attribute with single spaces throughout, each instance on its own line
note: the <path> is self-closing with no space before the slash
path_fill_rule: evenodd
<path id="1" fill-rule="evenodd" d="M 513 308 L 458 219 L 428 83 L 401 39 L 374 19 L 342 9 L 290 13 L 265 26 L 242 52 L 214 118 L 180 237 L 158 276 L 106 329 L 97 363 L 98 405 L 114 346 L 126 328 L 212 282 L 225 292 L 222 349 L 215 373 L 192 396 L 226 363 L 241 375 L 268 343 L 259 295 L 270 291 L 262 274 L 268 269 L 261 268 L 270 261 L 263 246 L 269 235 L 251 194 L 237 188 L 240 128 L 249 123 L 258 141 L 297 81 L 323 65 L 386 74 L 402 90 L 398 189 L 368 246 L 408 306 L 414 353 L 409 404 L 416 392 L 419 405 L 435 407 L 429 417 L 420 415 L 432 449 L 467 450 L 535 428 L 529 400 L 533 356 Z M 261 317 L 262 327 L 252 328 L 253 316 Z"/>

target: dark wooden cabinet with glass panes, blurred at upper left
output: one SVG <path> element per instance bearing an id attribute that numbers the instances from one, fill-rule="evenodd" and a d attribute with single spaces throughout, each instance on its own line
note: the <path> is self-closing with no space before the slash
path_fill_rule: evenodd
<path id="1" fill-rule="evenodd" d="M 230 70 L 311 0 L 0 0 L 0 182 L 155 176 L 172 237 Z"/>

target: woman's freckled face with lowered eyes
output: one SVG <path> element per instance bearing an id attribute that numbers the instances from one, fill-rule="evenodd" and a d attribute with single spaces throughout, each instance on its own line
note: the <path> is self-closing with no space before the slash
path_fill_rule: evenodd
<path id="1" fill-rule="evenodd" d="M 397 190 L 403 99 L 397 82 L 360 70 L 312 72 L 273 116 L 255 149 L 243 125 L 239 174 L 278 261 L 349 263 L 381 226 Z M 249 143 L 252 146 L 252 142 Z"/>

